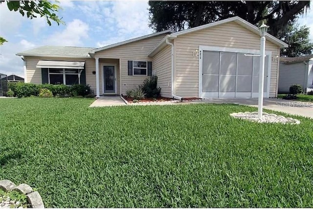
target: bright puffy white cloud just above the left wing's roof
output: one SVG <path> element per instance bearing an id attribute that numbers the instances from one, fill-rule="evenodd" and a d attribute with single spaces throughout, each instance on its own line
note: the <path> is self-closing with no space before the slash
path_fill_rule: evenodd
<path id="1" fill-rule="evenodd" d="M 88 38 L 89 25 L 81 20 L 74 19 L 67 23 L 62 32 L 55 32 L 47 40 L 46 45 L 80 46 L 83 39 Z"/>

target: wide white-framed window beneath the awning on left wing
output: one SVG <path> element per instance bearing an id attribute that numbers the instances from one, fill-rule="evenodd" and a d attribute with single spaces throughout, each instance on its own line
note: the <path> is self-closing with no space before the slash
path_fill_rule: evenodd
<path id="1" fill-rule="evenodd" d="M 80 84 L 81 71 L 79 69 L 48 68 L 49 84 Z"/>

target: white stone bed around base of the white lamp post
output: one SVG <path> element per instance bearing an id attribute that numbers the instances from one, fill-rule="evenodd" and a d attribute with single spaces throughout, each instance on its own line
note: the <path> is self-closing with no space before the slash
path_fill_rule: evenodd
<path id="1" fill-rule="evenodd" d="M 258 118 L 258 112 L 238 112 L 231 113 L 230 116 L 257 123 L 300 124 L 299 120 L 293 118 L 285 118 L 282 115 L 276 115 L 273 113 L 268 114 L 266 112 L 263 113 L 261 119 Z"/>

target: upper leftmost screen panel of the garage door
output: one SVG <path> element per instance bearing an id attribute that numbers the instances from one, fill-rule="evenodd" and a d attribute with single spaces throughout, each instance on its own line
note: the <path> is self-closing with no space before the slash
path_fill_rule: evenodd
<path id="1" fill-rule="evenodd" d="M 220 52 L 215 51 L 203 51 L 203 74 L 219 74 L 220 71 Z"/>

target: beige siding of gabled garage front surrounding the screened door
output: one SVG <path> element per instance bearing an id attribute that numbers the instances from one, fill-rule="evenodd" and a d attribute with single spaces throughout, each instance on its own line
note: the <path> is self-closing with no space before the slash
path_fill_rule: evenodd
<path id="1" fill-rule="evenodd" d="M 236 22 L 228 22 L 176 38 L 174 77 L 177 96 L 199 97 L 199 57 L 193 55 L 199 45 L 260 50 L 260 36 Z M 279 46 L 267 41 L 266 50 L 272 52 L 269 97 L 276 97 Z"/>

